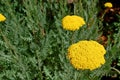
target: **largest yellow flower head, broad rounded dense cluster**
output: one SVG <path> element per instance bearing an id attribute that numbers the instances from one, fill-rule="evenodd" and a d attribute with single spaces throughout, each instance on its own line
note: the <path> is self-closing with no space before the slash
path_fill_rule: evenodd
<path id="1" fill-rule="evenodd" d="M 96 41 L 79 41 L 68 48 L 70 63 L 77 70 L 96 69 L 105 63 L 103 45 Z"/>

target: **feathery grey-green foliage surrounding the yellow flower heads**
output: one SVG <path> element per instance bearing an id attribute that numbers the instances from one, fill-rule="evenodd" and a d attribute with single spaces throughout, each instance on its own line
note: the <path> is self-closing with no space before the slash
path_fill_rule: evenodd
<path id="1" fill-rule="evenodd" d="M 66 0 L 0 0 L 0 80 L 100 80 L 109 75 L 119 53 L 120 31 L 115 44 L 105 47 L 106 63 L 93 71 L 76 70 L 67 59 L 67 48 L 80 40 L 102 34 L 97 0 L 78 0 L 70 10 Z M 79 15 L 86 25 L 75 32 L 62 28 L 62 18 Z M 117 55 L 117 56 L 116 56 Z"/>

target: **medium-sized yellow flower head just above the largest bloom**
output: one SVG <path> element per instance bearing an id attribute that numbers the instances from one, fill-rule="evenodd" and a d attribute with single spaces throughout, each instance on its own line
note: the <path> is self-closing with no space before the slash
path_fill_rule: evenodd
<path id="1" fill-rule="evenodd" d="M 67 15 L 62 19 L 63 28 L 66 30 L 75 31 L 82 27 L 84 24 L 84 19 L 76 15 Z"/>

